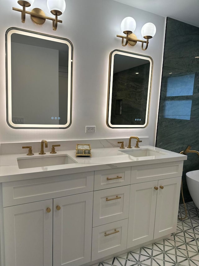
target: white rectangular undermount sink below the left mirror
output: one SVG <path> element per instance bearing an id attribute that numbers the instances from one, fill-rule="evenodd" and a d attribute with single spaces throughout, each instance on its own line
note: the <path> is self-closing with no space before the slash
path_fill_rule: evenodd
<path id="1" fill-rule="evenodd" d="M 17 158 L 19 169 L 76 163 L 67 154 Z"/>

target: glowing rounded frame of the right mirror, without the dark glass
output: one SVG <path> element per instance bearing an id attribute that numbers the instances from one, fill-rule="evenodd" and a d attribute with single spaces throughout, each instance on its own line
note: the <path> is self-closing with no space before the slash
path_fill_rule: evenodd
<path id="1" fill-rule="evenodd" d="M 113 125 L 111 124 L 111 108 L 112 108 L 112 93 L 113 93 L 113 67 L 114 67 L 114 56 L 116 54 L 131 56 L 134 58 L 140 58 L 148 60 L 150 62 L 149 70 L 149 81 L 148 81 L 148 93 L 147 93 L 147 103 L 146 103 L 146 117 L 145 123 L 143 125 Z M 153 59 L 150 56 L 145 56 L 141 54 L 135 54 L 127 51 L 113 50 L 109 55 L 109 82 L 108 82 L 108 99 L 107 99 L 107 118 L 106 124 L 109 128 L 145 128 L 148 125 L 149 120 L 149 109 L 150 109 L 150 94 L 151 94 L 151 84 L 152 84 L 152 73 L 153 73 Z"/>

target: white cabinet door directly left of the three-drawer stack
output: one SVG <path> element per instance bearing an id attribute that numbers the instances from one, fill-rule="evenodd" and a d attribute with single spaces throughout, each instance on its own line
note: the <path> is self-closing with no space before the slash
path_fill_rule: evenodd
<path id="1" fill-rule="evenodd" d="M 53 199 L 53 266 L 91 261 L 93 192 Z"/>

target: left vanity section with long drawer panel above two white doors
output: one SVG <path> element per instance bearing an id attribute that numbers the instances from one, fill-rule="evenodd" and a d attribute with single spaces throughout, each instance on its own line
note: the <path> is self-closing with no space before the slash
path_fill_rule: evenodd
<path id="1" fill-rule="evenodd" d="M 6 266 L 77 266 L 90 262 L 93 178 L 94 172 L 86 172 L 50 177 L 49 182 L 41 178 L 3 183 L 5 206 L 11 201 L 17 204 L 35 201 L 37 196 L 51 197 L 3 208 Z M 87 180 L 85 186 L 81 179 Z M 82 182 L 78 184 L 78 180 Z M 65 185 L 60 186 L 60 182 Z M 69 187 L 76 193 L 91 191 L 56 197 L 63 191 L 74 193 Z M 7 195 L 7 191 L 12 193 Z"/>

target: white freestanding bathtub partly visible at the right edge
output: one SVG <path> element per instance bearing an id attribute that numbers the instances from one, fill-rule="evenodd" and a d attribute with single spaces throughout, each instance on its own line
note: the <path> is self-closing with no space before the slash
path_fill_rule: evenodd
<path id="1" fill-rule="evenodd" d="M 186 178 L 189 193 L 199 209 L 199 170 L 187 172 Z"/>

